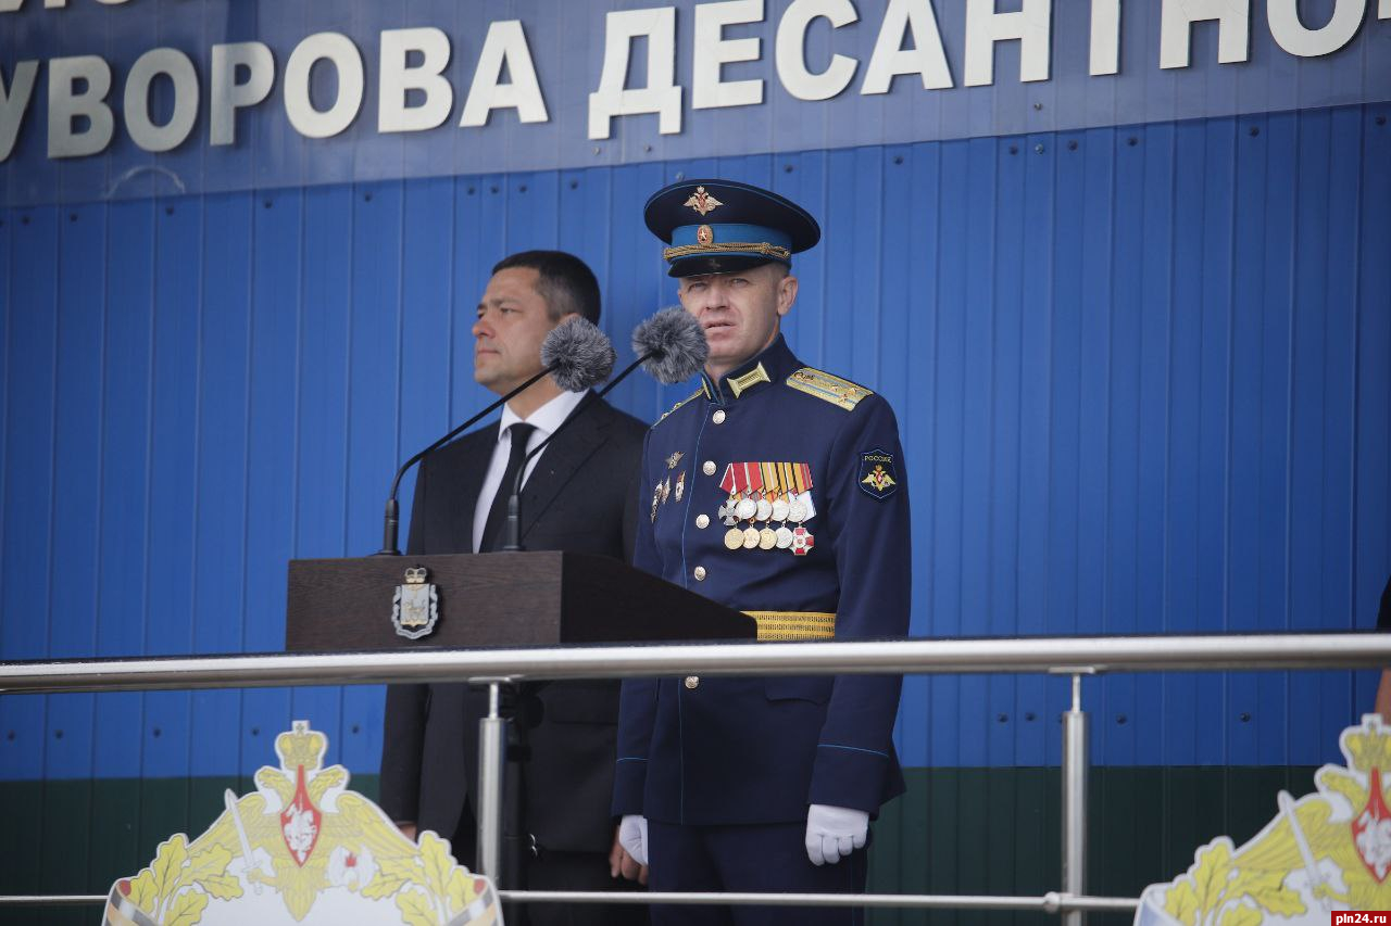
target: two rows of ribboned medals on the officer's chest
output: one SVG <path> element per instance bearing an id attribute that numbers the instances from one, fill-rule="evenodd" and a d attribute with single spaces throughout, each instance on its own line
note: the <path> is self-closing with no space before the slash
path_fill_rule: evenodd
<path id="1" fill-rule="evenodd" d="M 803 524 L 815 514 L 807 463 L 729 463 L 719 488 L 726 498 L 716 517 L 729 528 L 727 549 L 790 549 L 797 556 L 811 552 L 815 539 Z"/>

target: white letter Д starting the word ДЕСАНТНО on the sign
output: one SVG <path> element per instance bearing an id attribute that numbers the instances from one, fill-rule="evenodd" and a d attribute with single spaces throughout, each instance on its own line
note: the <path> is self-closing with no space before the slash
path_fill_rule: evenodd
<path id="1" fill-rule="evenodd" d="M 647 36 L 647 86 L 625 89 L 633 40 Z M 622 49 L 622 50 L 620 50 Z M 657 131 L 682 131 L 682 88 L 676 86 L 676 7 L 615 10 L 604 18 L 604 70 L 590 93 L 590 138 L 609 136 L 615 115 L 657 113 Z"/>

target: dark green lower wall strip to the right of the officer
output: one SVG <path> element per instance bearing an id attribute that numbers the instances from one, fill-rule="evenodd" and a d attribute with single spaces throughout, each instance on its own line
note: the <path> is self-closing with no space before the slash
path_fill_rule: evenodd
<path id="1" fill-rule="evenodd" d="M 1088 783 L 1088 893 L 1138 897 L 1228 834 L 1241 845 L 1278 812 L 1276 794 L 1314 790 L 1316 766 L 1095 767 Z M 875 829 L 869 890 L 1027 894 L 1059 890 L 1061 774 L 1057 769 L 911 769 L 908 793 Z M 1093 915 L 1093 926 L 1129 923 Z M 1043 925 L 1046 913 L 876 911 L 875 926 Z"/>

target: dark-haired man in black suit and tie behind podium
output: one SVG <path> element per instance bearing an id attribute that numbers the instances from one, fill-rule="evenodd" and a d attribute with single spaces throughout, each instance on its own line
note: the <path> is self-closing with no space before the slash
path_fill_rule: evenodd
<path id="1" fill-rule="evenodd" d="M 600 317 L 594 274 L 566 253 L 533 250 L 492 268 L 473 325 L 473 378 L 498 395 L 541 371 L 541 342 L 558 324 Z M 636 476 L 647 432 L 593 392 L 562 392 L 549 377 L 508 402 L 497 427 L 427 456 L 416 481 L 408 553 L 491 552 L 505 542 L 506 498 L 526 450 L 574 417 L 527 466 L 522 544 L 632 559 Z M 531 685 L 520 698 L 530 761 L 520 765 L 522 876 L 531 890 L 606 890 L 637 877 L 609 816 L 616 680 Z M 387 690 L 381 806 L 415 837 L 449 837 L 474 868 L 477 722 L 487 695 L 465 684 Z M 513 854 L 515 855 L 515 854 Z M 643 923 L 644 907 L 534 904 L 531 923 Z M 513 913 L 509 912 L 509 922 Z"/>

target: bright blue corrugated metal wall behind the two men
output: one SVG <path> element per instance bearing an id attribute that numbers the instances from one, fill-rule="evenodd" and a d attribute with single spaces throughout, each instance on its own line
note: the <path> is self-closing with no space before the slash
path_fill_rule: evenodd
<path id="1" fill-rule="evenodd" d="M 640 210 L 679 174 L 822 218 L 789 332 L 899 410 L 915 634 L 1367 627 L 1388 110 L 0 211 L 0 658 L 278 648 L 285 560 L 374 549 L 395 463 L 487 398 L 491 264 L 579 253 L 623 343 L 673 302 Z M 654 419 L 684 393 L 615 395 Z M 1317 763 L 1370 683 L 1091 681 L 1095 756 Z M 901 749 L 1053 762 L 1061 706 L 1057 680 L 912 679 Z M 371 772 L 380 712 L 366 688 L 7 697 L 0 777 L 245 772 L 291 716 Z"/>

